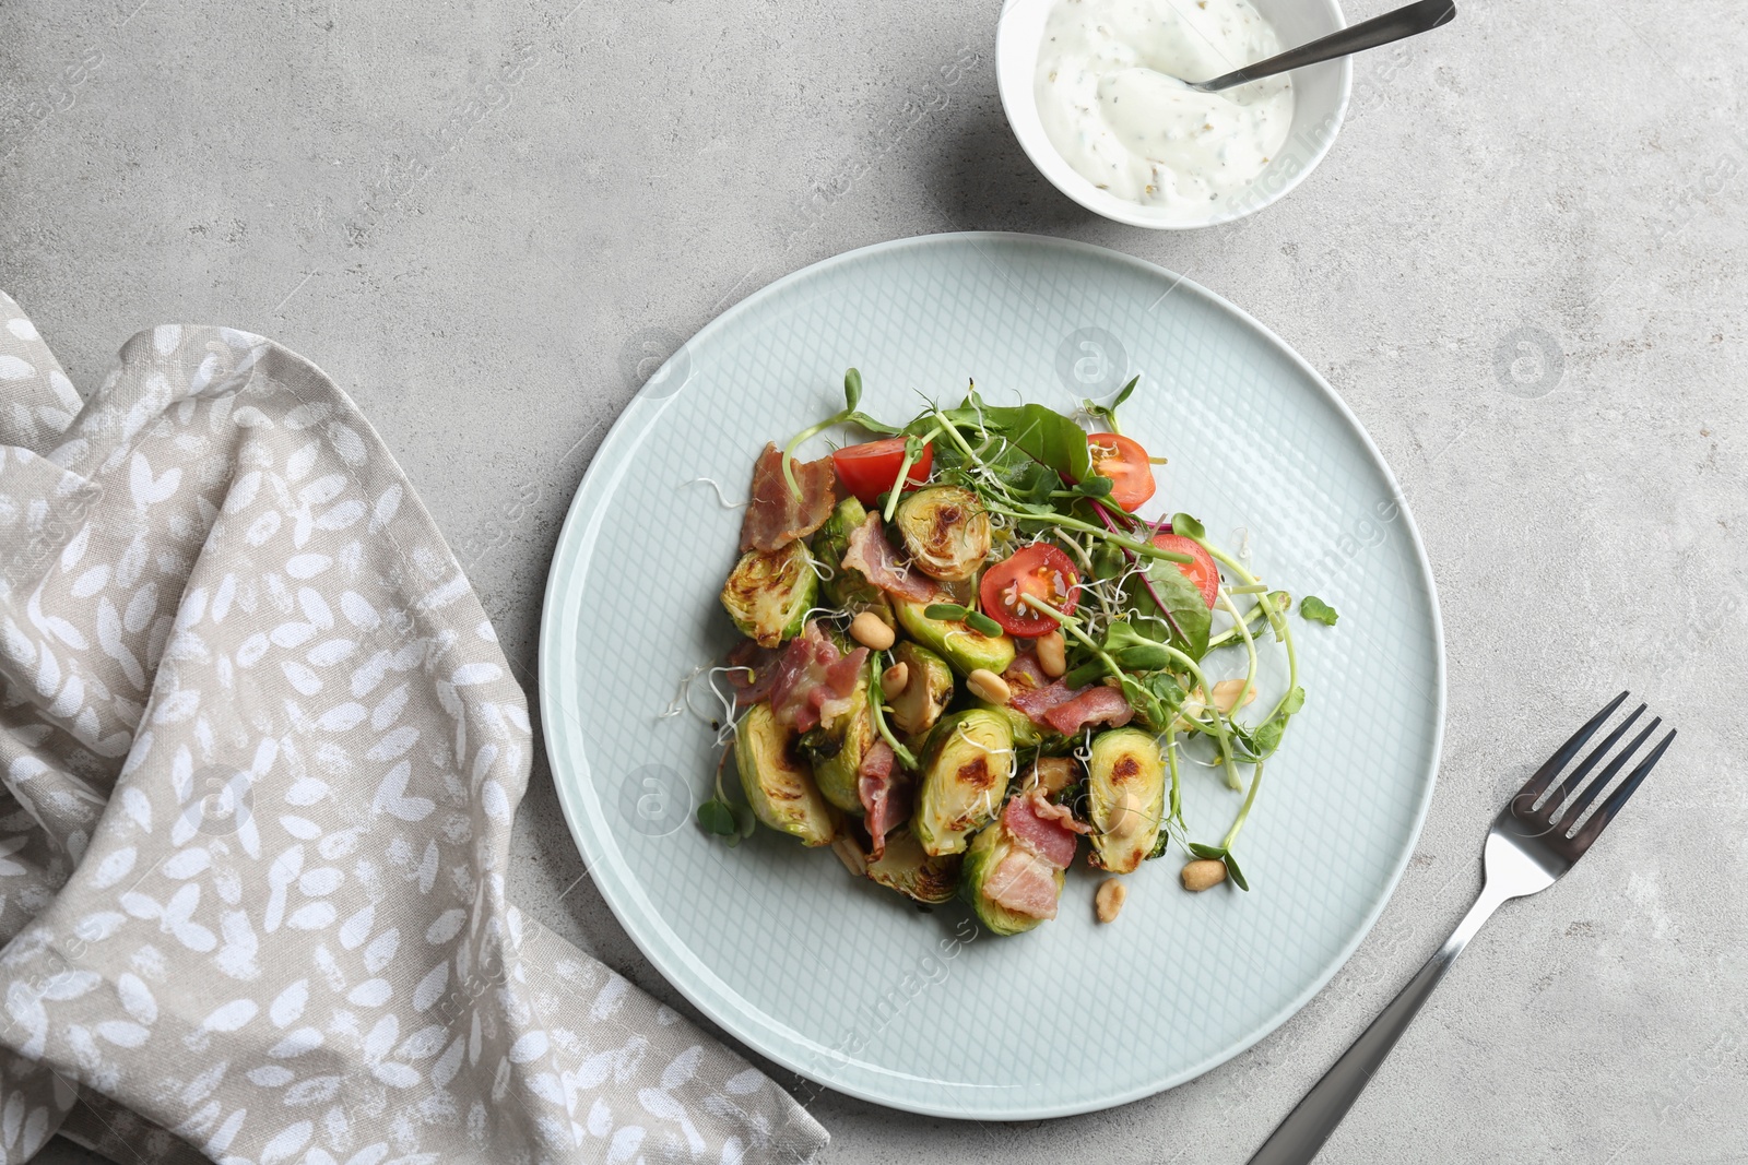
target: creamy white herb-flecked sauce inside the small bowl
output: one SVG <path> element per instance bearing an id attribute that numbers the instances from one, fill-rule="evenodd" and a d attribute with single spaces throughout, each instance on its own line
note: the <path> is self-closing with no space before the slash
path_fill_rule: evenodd
<path id="1" fill-rule="evenodd" d="M 1285 75 L 1222 93 L 1183 82 L 1280 51 L 1250 0 L 1061 0 L 1038 51 L 1038 115 L 1092 185 L 1199 222 L 1280 152 L 1294 93 Z"/>

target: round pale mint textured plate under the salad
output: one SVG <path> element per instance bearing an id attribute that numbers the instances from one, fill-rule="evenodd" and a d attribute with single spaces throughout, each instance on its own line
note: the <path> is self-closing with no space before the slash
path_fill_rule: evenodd
<path id="1" fill-rule="evenodd" d="M 1124 430 L 1171 463 L 1157 505 L 1246 541 L 1255 569 L 1318 594 L 1295 617 L 1309 693 L 1239 842 L 1250 893 L 1187 894 L 1173 854 L 1092 919 L 1094 872 L 1061 915 L 996 938 L 960 905 L 919 910 L 830 851 L 769 830 L 701 833 L 713 734 L 662 718 L 734 631 L 717 590 L 767 440 L 918 393 L 1072 409 L 1141 388 Z M 822 456 L 823 440 L 809 445 Z M 1274 653 L 1278 655 L 1278 653 Z M 1281 683 L 1283 669 L 1269 672 Z M 1278 686 L 1276 686 L 1278 690 Z M 1264 693 L 1266 697 L 1269 692 Z M 703 700 L 696 700 L 703 707 Z M 662 365 L 577 491 L 547 580 L 540 707 L 589 875 L 650 962 L 748 1048 L 839 1092 L 932 1116 L 1087 1113 L 1190 1079 L 1262 1039 L 1358 947 L 1432 798 L 1444 651 L 1432 571 L 1390 470 L 1341 398 L 1224 299 L 1127 255 L 1017 234 L 940 234 L 773 283 Z M 1238 809 L 1189 767 L 1185 810 L 1218 840 Z"/>

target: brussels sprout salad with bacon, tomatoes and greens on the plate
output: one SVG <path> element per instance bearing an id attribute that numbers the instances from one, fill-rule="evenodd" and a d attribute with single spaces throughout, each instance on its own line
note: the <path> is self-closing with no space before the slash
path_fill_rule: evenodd
<path id="1" fill-rule="evenodd" d="M 1134 389 L 1068 416 L 972 386 L 890 426 L 851 369 L 841 412 L 764 449 L 720 596 L 745 639 L 708 669 L 729 748 L 704 831 L 829 845 L 998 934 L 1056 917 L 1082 840 L 1101 922 L 1173 847 L 1185 889 L 1250 889 L 1239 831 L 1306 700 L 1290 597 L 1152 505 L 1162 459 L 1117 417 Z M 797 461 L 834 426 L 871 440 Z M 1259 699 L 1266 651 L 1287 681 Z M 1185 819 L 1194 779 L 1231 789 L 1224 835 Z"/>

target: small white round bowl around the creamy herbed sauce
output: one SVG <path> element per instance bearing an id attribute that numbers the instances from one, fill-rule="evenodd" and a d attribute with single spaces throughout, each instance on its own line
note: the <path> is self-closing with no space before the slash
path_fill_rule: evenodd
<path id="1" fill-rule="evenodd" d="M 1159 0 L 1159 3 L 1171 2 L 1189 3 L 1192 0 Z M 1038 49 L 1044 44 L 1044 23 L 1056 3 L 1058 0 L 1007 0 L 995 35 L 995 79 L 1002 91 L 1007 122 L 1014 128 L 1014 136 L 1019 138 L 1031 164 L 1058 190 L 1094 213 L 1131 227 L 1155 231 L 1213 227 L 1243 218 L 1304 182 L 1304 176 L 1316 169 L 1316 164 L 1328 154 L 1328 147 L 1341 129 L 1341 121 L 1348 112 L 1348 91 L 1353 87 L 1353 58 L 1325 61 L 1290 73 L 1294 122 L 1287 134 L 1287 145 L 1241 194 L 1211 206 L 1204 220 L 1183 222 L 1182 215 L 1168 215 L 1161 208 L 1141 206 L 1108 190 L 1099 190 L 1056 152 L 1044 131 L 1044 122 L 1038 119 L 1035 86 Z M 1252 0 L 1252 3 L 1274 26 L 1285 49 L 1327 37 L 1348 24 L 1335 0 Z"/>

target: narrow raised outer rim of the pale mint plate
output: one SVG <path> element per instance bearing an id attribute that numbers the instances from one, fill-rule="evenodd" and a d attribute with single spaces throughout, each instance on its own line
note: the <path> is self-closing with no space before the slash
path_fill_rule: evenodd
<path id="1" fill-rule="evenodd" d="M 552 714 L 554 700 L 558 699 L 556 690 L 559 688 L 558 683 L 559 655 L 552 648 L 558 646 L 556 643 L 558 627 L 563 622 L 561 613 L 556 615 L 554 611 L 554 604 L 558 599 L 556 592 L 558 592 L 563 548 L 573 536 L 575 533 L 573 527 L 587 520 L 587 515 L 582 514 L 579 505 L 586 487 L 598 475 L 612 473 L 610 466 L 596 463 L 600 451 L 605 449 L 614 440 L 615 433 L 622 437 L 621 430 L 636 419 L 633 414 L 638 412 L 636 409 L 638 402 L 676 396 L 678 391 L 683 389 L 685 381 L 682 381 L 678 386 L 669 386 L 666 381 L 675 370 L 673 369 L 675 362 L 680 360 L 682 356 L 687 356 L 687 349 L 690 346 L 701 341 L 713 339 L 718 332 L 734 327 L 734 320 L 743 311 L 750 309 L 752 306 L 766 299 L 780 295 L 783 290 L 787 290 L 795 283 L 801 283 L 820 272 L 830 271 L 837 265 L 855 264 L 858 260 L 871 259 L 874 255 L 883 255 L 888 252 L 904 252 L 912 248 L 925 250 L 949 243 L 968 243 L 975 248 L 979 241 L 1010 241 L 1010 243 L 1023 243 L 1028 246 L 1038 246 L 1042 250 L 1059 250 L 1070 255 L 1077 255 L 1080 259 L 1117 262 L 1119 265 L 1136 269 L 1147 274 L 1148 278 L 1166 278 L 1171 281 L 1173 292 L 1187 290 L 1192 295 L 1204 297 L 1215 307 L 1231 313 L 1232 318 L 1236 318 L 1245 327 L 1252 328 L 1266 342 L 1273 344 L 1281 355 L 1285 355 L 1288 362 L 1294 367 L 1297 367 L 1297 370 L 1323 395 L 1323 400 L 1335 409 L 1337 416 L 1348 424 L 1348 428 L 1360 438 L 1360 445 L 1363 447 L 1365 454 L 1372 459 L 1374 468 L 1383 475 L 1384 482 L 1390 486 L 1391 501 L 1398 508 L 1404 519 L 1404 529 L 1409 534 L 1409 543 L 1414 548 L 1414 561 L 1419 566 L 1421 580 L 1425 582 L 1426 587 L 1428 611 L 1432 615 L 1432 643 L 1433 643 L 1435 700 L 1433 700 L 1432 751 L 1426 762 L 1425 786 L 1421 789 L 1419 802 L 1414 807 L 1414 821 L 1407 835 L 1404 837 L 1402 849 L 1395 859 L 1393 868 L 1390 870 L 1390 877 L 1386 879 L 1383 891 L 1377 894 L 1377 900 L 1372 903 L 1365 919 L 1356 927 L 1353 938 L 1330 959 L 1328 968 L 1304 990 L 1301 990 L 1288 1003 L 1285 1003 L 1280 1010 L 1276 1010 L 1274 1013 L 1266 1017 L 1260 1024 L 1257 1024 L 1257 1027 L 1252 1032 L 1246 1032 L 1243 1037 L 1236 1039 L 1231 1046 L 1224 1048 L 1222 1051 L 1217 1051 L 1215 1055 L 1197 1064 L 1192 1064 L 1162 1079 L 1147 1081 L 1126 1088 L 1122 1092 L 1101 1095 L 1098 1099 L 1077 1100 L 1068 1104 L 1031 1106 L 1026 1111 L 1014 1111 L 1014 1109 L 967 1111 L 963 1104 L 933 1106 L 928 1104 L 926 1100 L 919 1102 L 919 1100 L 900 1099 L 888 1093 L 879 1093 L 874 1088 L 850 1085 L 841 1079 L 825 1079 L 822 1078 L 822 1072 L 816 1067 L 804 1067 L 799 1060 L 787 1055 L 785 1051 L 778 1051 L 767 1046 L 760 1039 L 764 1032 L 760 1029 L 753 1029 L 752 1025 L 745 1024 L 739 1013 L 724 1011 L 722 1008 L 717 1008 L 713 1001 L 704 997 L 703 992 L 696 990 L 694 983 L 671 978 L 664 969 L 664 959 L 659 959 L 652 952 L 652 940 L 643 931 L 643 920 L 636 917 L 635 912 L 628 910 L 629 903 L 626 901 L 626 898 L 629 891 L 626 887 L 614 886 L 612 880 L 603 882 L 593 877 L 593 873 L 598 868 L 612 868 L 614 863 L 607 861 L 608 854 L 591 852 L 589 847 L 593 842 L 586 840 L 589 837 L 589 831 L 584 828 L 586 823 L 580 817 L 582 807 L 575 803 L 579 793 L 577 789 L 570 788 L 572 781 L 577 782 L 586 781 L 587 770 L 584 765 L 584 772 L 575 774 L 573 770 L 579 763 L 575 760 L 566 760 L 561 763 L 559 749 L 556 748 L 556 739 L 559 734 L 554 734 L 551 730 L 551 725 L 563 723 L 563 720 L 566 718 L 565 713 L 559 713 L 556 716 Z M 652 391 L 652 388 L 659 388 L 659 391 Z M 788 1069 L 790 1072 L 795 1072 L 799 1078 L 811 1079 L 823 1088 L 830 1088 L 832 1092 L 855 1097 L 869 1104 L 877 1104 L 886 1109 L 900 1113 L 916 1113 L 919 1116 L 933 1116 L 942 1120 L 1026 1121 L 1026 1120 L 1051 1120 L 1061 1116 L 1082 1116 L 1087 1113 L 1101 1113 L 1106 1109 L 1120 1107 L 1124 1104 L 1133 1104 L 1136 1100 L 1145 1100 L 1147 1097 L 1169 1092 L 1171 1088 L 1176 1088 L 1199 1076 L 1204 1076 L 1213 1069 L 1220 1067 L 1222 1064 L 1225 1064 L 1227 1060 L 1243 1055 L 1245 1051 L 1259 1044 L 1262 1039 L 1280 1031 L 1283 1024 L 1287 1024 L 1292 1017 L 1299 1015 L 1299 1011 L 1302 1011 L 1306 1004 L 1311 1003 L 1311 999 L 1314 999 L 1325 987 L 1328 987 L 1328 983 L 1335 978 L 1335 975 L 1341 973 L 1341 969 L 1348 964 L 1353 954 L 1372 933 L 1372 927 L 1377 926 L 1377 919 L 1383 915 L 1384 908 L 1390 905 L 1390 900 L 1395 896 L 1397 887 L 1402 882 L 1402 875 L 1407 872 L 1409 861 L 1414 858 L 1414 851 L 1419 847 L 1419 837 L 1426 826 L 1426 816 L 1432 809 L 1432 798 L 1437 793 L 1439 767 L 1444 755 L 1447 676 L 1446 676 L 1444 615 L 1439 606 L 1437 578 L 1433 576 L 1432 559 L 1426 554 L 1426 545 L 1421 540 L 1419 524 L 1414 520 L 1409 500 L 1402 493 L 1402 484 L 1397 480 L 1395 472 L 1384 459 L 1383 451 L 1377 449 L 1377 444 L 1372 440 L 1372 435 L 1367 431 L 1365 424 L 1362 424 L 1360 417 L 1355 416 L 1353 409 L 1348 407 L 1348 402 L 1342 400 L 1342 396 L 1328 384 L 1328 381 L 1325 381 L 1323 376 L 1304 356 L 1301 356 L 1292 344 L 1283 341 L 1280 335 L 1274 334 L 1273 328 L 1264 325 L 1260 320 L 1257 320 L 1248 311 L 1231 302 L 1218 292 L 1213 292 L 1203 286 L 1201 283 L 1187 276 L 1182 276 L 1168 267 L 1148 262 L 1145 259 L 1138 259 L 1126 252 L 1117 252 L 1108 246 L 1099 246 L 1094 243 L 1082 243 L 1079 239 L 1065 239 L 1058 236 L 1031 234 L 1023 231 L 947 231 L 947 232 L 916 234 L 900 239 L 886 239 L 883 243 L 858 246 L 848 252 L 839 252 L 818 262 L 808 264 L 806 267 L 792 271 L 778 279 L 773 279 L 771 283 L 760 286 L 745 299 L 736 300 L 718 316 L 704 323 L 704 327 L 701 327 L 690 339 L 682 342 L 680 348 L 675 349 L 675 353 L 666 362 L 662 362 L 662 365 L 631 396 L 631 400 L 626 402 L 624 409 L 621 409 L 612 426 L 608 426 L 607 435 L 601 438 L 601 444 L 596 447 L 596 456 L 589 459 L 589 466 L 584 470 L 582 479 L 577 482 L 577 489 L 572 494 L 570 507 L 565 512 L 565 522 L 559 527 L 558 540 L 554 541 L 552 547 L 552 562 L 547 568 L 547 580 L 540 603 L 540 631 L 537 634 L 535 645 L 538 651 L 537 679 L 540 685 L 538 692 L 540 737 L 545 748 L 547 765 L 552 770 L 552 786 L 554 791 L 558 793 L 559 809 L 565 814 L 565 826 L 570 830 L 572 844 L 582 856 L 584 870 L 586 873 L 591 875 L 591 882 L 594 882 L 596 891 L 601 894 L 603 901 L 607 901 L 607 906 L 614 912 L 614 917 L 619 920 L 619 926 L 626 931 L 626 936 L 631 938 L 638 952 L 649 961 L 650 968 L 654 968 L 656 973 L 661 975 L 662 982 L 666 982 L 671 989 L 680 992 L 711 1024 L 715 1024 L 718 1029 L 732 1036 L 745 1050 L 750 1050 L 753 1055 L 774 1062 Z M 757 1010 L 748 1008 L 748 1011 L 757 1011 Z"/>

